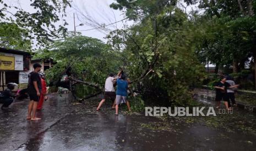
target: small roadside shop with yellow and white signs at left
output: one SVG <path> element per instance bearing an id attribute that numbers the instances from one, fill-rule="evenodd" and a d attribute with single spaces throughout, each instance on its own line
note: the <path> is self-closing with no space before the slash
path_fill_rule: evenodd
<path id="1" fill-rule="evenodd" d="M 0 48 L 0 91 L 8 83 L 17 83 L 19 89 L 28 85 L 31 54 L 26 51 Z"/>

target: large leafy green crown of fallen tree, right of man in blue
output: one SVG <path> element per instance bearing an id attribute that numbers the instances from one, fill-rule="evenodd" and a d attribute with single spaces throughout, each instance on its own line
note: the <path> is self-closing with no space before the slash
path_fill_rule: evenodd
<path id="1" fill-rule="evenodd" d="M 175 5 L 175 1 L 117 1 L 112 8 L 139 22 L 111 32 L 108 38 L 113 49 L 128 57 L 124 68 L 132 80 L 139 80 L 133 88 L 146 100 L 186 106 L 193 104 L 189 87 L 203 79 L 205 71 L 195 55 L 200 30 Z"/>

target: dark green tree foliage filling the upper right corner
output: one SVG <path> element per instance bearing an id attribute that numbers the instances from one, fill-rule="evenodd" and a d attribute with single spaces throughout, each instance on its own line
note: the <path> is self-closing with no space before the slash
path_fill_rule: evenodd
<path id="1" fill-rule="evenodd" d="M 254 15 L 256 2 L 251 0 L 221 0 L 199 1 L 199 3 L 199 7 L 205 10 L 206 16 L 226 28 L 225 32 L 228 37 L 216 38 L 216 40 L 211 41 L 211 44 L 222 43 L 221 48 L 228 48 L 221 55 L 222 58 L 225 58 L 225 54 L 230 54 L 233 72 L 239 71 L 238 64 L 243 67 L 244 62 L 252 57 L 256 79 L 256 17 Z M 219 30 L 213 32 L 219 33 Z"/>

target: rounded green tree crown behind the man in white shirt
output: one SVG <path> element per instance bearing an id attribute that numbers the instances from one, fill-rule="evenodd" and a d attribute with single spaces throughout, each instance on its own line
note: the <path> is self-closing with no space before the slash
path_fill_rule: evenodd
<path id="1" fill-rule="evenodd" d="M 86 36 L 57 40 L 51 47 L 37 51 L 36 57 L 51 57 L 57 62 L 47 71 L 48 83 L 57 82 L 72 65 L 71 72 L 75 78 L 103 87 L 107 75 L 117 73 L 122 65 L 122 60 L 109 45 Z M 85 90 L 89 93 L 90 89 L 86 87 Z"/>

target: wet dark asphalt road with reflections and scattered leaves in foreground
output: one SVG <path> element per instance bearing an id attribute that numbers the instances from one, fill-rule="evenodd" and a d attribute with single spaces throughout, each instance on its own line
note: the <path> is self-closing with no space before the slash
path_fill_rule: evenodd
<path id="1" fill-rule="evenodd" d="M 172 118 L 141 114 L 116 116 L 99 99 L 70 103 L 66 95 L 51 95 L 41 121 L 26 121 L 27 102 L 0 111 L 1 150 L 255 150 L 255 135 L 227 132 Z M 166 124 L 167 123 L 167 124 Z M 148 126 L 150 124 L 152 127 Z M 144 125 L 144 126 L 143 126 Z M 159 129 L 160 127 L 163 127 Z"/>

